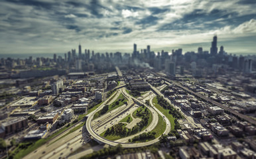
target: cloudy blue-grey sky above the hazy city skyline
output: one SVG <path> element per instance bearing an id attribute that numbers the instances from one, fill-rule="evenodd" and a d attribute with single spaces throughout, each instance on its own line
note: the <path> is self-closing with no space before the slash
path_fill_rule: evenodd
<path id="1" fill-rule="evenodd" d="M 1 0 L 0 54 L 218 48 L 256 54 L 255 0 Z M 84 52 L 84 51 L 83 51 Z"/>

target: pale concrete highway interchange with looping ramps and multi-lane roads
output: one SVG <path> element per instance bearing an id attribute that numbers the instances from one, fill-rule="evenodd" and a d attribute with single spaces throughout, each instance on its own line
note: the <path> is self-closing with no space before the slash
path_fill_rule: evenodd
<path id="1" fill-rule="evenodd" d="M 119 77 L 122 77 L 121 71 L 118 68 L 116 68 L 116 70 Z M 166 83 L 170 84 L 168 82 Z M 160 136 L 148 142 L 133 143 L 133 142 L 128 142 L 128 140 L 130 138 L 133 138 L 134 136 L 142 134 L 143 132 L 153 131 L 153 129 L 155 129 L 155 127 L 159 122 L 159 115 L 163 117 L 164 123 L 166 124 L 166 129 L 164 130 L 163 134 L 168 134 L 168 132 L 170 132 L 171 130 L 170 121 L 168 121 L 168 119 L 164 116 L 164 114 L 161 111 L 159 111 L 159 109 L 157 109 L 153 104 L 153 98 L 156 97 L 156 95 L 162 95 L 162 93 L 160 93 L 160 90 L 163 89 L 166 86 L 166 84 L 160 87 L 153 87 L 151 85 L 151 91 L 148 91 L 147 93 L 145 93 L 145 95 L 141 95 L 141 97 L 138 97 L 138 98 L 135 98 L 129 95 L 129 93 L 127 93 L 124 86 L 125 86 L 125 83 L 123 79 L 121 79 L 120 85 L 115 88 L 116 93 L 113 93 L 113 95 L 111 95 L 108 99 L 106 99 L 96 110 L 92 111 L 88 115 L 88 119 L 86 120 L 86 125 L 84 125 L 82 128 L 70 134 L 66 134 L 67 132 L 60 134 L 53 140 L 50 140 L 48 143 L 34 150 L 34 152 L 27 155 L 26 157 L 27 158 L 77 158 L 77 157 L 86 155 L 87 153 L 90 153 L 93 150 L 100 150 L 101 148 L 103 148 L 103 144 L 109 144 L 111 146 L 116 146 L 117 144 L 121 144 L 125 148 L 136 148 L 141 146 L 149 146 L 151 144 L 159 142 Z M 94 119 L 94 115 L 97 113 L 97 111 L 100 111 L 104 107 L 104 105 L 110 105 L 111 103 L 113 103 L 121 93 L 127 99 L 127 103 L 125 105 L 121 105 L 120 107 L 117 107 L 116 109 L 113 109 L 110 112 L 105 113 L 104 115 L 101 115 L 101 117 Z M 147 100 L 150 101 L 150 105 L 145 104 Z M 170 100 L 168 99 L 166 100 L 169 103 L 171 103 Z M 171 104 L 173 105 L 173 103 Z M 124 138 L 120 138 L 117 140 L 108 140 L 99 135 L 104 131 L 106 131 L 108 128 L 111 128 L 113 125 L 120 123 L 122 119 L 127 117 L 127 115 L 131 115 L 141 105 L 145 105 L 145 107 L 147 107 L 151 111 L 152 118 L 153 118 L 152 122 L 149 123 L 149 126 L 146 129 L 144 129 L 141 132 L 138 132 L 137 134 L 132 134 L 131 136 L 126 136 Z M 179 107 L 176 107 L 176 109 L 180 110 Z M 202 128 L 202 125 L 200 125 L 198 121 L 195 121 L 192 117 L 190 117 L 190 115 L 187 115 L 184 113 L 182 113 L 182 115 L 184 115 L 188 123 L 191 123 L 191 125 Z M 131 117 L 132 116 L 133 115 L 131 115 Z M 137 124 L 137 122 L 139 122 L 139 120 L 141 119 L 137 119 L 136 121 L 133 118 L 133 122 L 128 123 L 126 127 L 129 127 L 129 128 L 133 127 L 134 125 Z M 77 125 L 81 123 L 82 122 L 78 123 Z M 70 156 L 70 153 L 74 152 L 84 144 L 88 143 L 92 138 L 94 138 L 94 140 L 97 140 L 97 142 L 100 142 L 103 144 L 94 146 L 84 152 L 80 152 L 78 153 L 78 156 L 76 155 Z"/>

